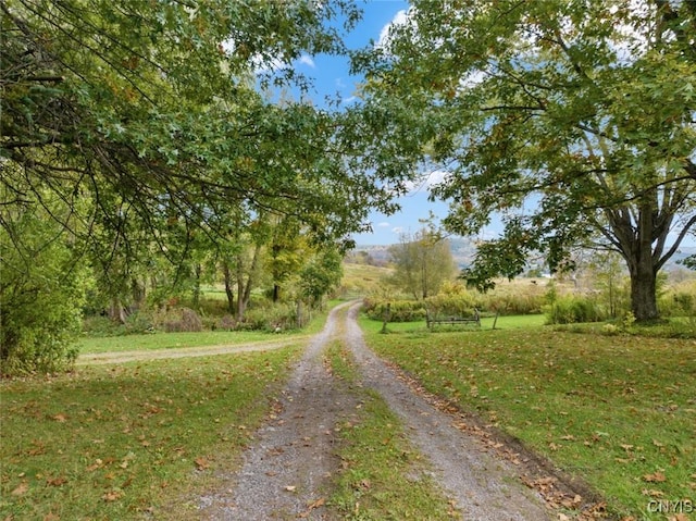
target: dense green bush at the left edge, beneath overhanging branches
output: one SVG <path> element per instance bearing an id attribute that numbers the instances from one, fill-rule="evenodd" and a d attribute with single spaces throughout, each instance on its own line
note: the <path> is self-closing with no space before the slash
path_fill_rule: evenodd
<path id="1" fill-rule="evenodd" d="M 52 221 L 3 212 L 0 227 L 0 372 L 72 364 L 88 278 Z"/>

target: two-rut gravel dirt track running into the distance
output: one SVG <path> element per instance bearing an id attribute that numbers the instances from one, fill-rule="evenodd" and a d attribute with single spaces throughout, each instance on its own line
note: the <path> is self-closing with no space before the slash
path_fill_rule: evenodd
<path id="1" fill-rule="evenodd" d="M 412 444 L 430 460 L 434 477 L 465 520 L 551 519 L 517 469 L 486 451 L 475 436 L 457 429 L 414 393 L 395 370 L 364 344 L 357 325 L 358 306 L 335 309 L 321 334 L 309 344 L 283 392 L 278 414 L 261 427 L 228 486 L 201 498 L 204 519 L 334 519 L 323 505 L 332 475 L 338 472 L 334 426 L 356 413 L 357 398 L 323 364 L 322 351 L 334 340 L 352 352 L 362 385 L 376 390 L 400 418 Z"/>

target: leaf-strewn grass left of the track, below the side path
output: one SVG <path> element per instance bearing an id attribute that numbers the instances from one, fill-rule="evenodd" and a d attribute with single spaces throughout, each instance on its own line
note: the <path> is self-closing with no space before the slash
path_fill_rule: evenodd
<path id="1" fill-rule="evenodd" d="M 1 382 L 0 519 L 191 519 L 298 352 Z"/>

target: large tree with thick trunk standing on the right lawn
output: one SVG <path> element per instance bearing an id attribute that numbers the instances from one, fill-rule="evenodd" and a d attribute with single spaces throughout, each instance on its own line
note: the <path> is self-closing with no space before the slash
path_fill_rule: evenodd
<path id="1" fill-rule="evenodd" d="M 447 170 L 445 226 L 469 235 L 502 215 L 477 251 L 480 286 L 532 252 L 556 270 L 600 244 L 651 321 L 657 273 L 696 225 L 694 38 L 695 2 L 423 0 L 355 66 L 366 110 L 420 114 L 402 168 Z"/>

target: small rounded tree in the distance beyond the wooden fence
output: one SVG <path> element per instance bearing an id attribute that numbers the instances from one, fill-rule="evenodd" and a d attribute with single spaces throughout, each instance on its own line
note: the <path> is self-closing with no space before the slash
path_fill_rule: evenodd
<path id="1" fill-rule="evenodd" d="M 395 268 L 390 283 L 415 299 L 436 295 L 456 274 L 449 241 L 432 227 L 402 235 L 398 245 L 389 247 L 389 256 Z"/>

